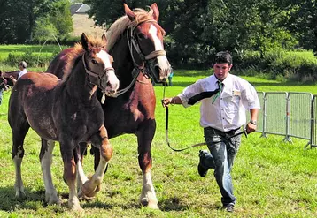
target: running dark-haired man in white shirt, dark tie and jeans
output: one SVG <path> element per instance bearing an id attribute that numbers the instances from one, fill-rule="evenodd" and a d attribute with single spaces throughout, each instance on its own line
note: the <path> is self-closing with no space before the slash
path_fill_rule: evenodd
<path id="1" fill-rule="evenodd" d="M 213 75 L 187 86 L 181 94 L 165 98 L 164 107 L 182 104 L 185 108 L 201 103 L 200 125 L 204 128 L 207 151 L 199 151 L 198 173 L 205 177 L 208 169 L 214 169 L 214 177 L 222 195 L 223 208 L 234 211 L 236 197 L 233 193 L 231 169 L 241 142 L 240 127 L 246 123 L 245 109 L 250 110 L 251 120 L 246 124 L 248 133 L 257 128 L 259 98 L 256 90 L 246 80 L 229 73 L 232 57 L 228 52 L 216 54 Z M 214 143 L 223 139 L 230 139 Z"/>

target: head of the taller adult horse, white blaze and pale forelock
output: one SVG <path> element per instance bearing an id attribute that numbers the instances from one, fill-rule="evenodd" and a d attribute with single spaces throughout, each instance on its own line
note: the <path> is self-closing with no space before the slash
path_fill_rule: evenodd
<path id="1" fill-rule="evenodd" d="M 147 72 L 156 82 L 165 82 L 171 72 L 171 65 L 163 45 L 165 31 L 158 25 L 158 5 L 152 4 L 146 16 L 132 11 L 127 4 L 124 4 L 124 8 L 131 21 L 128 26 L 128 45 L 135 64 L 145 64 Z"/>

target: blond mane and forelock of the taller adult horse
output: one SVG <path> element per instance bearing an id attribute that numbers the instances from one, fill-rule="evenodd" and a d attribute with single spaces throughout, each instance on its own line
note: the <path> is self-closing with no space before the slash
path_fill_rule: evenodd
<path id="1" fill-rule="evenodd" d="M 120 39 L 121 34 L 128 28 L 128 26 L 134 27 L 138 24 L 153 19 L 153 10 L 149 7 L 149 11 L 145 11 L 141 8 L 134 9 L 135 20 L 130 21 L 128 16 L 122 16 L 120 19 L 117 19 L 112 26 L 107 30 L 107 51 L 110 51 L 114 44 Z M 164 31 L 164 30 L 163 30 Z"/>

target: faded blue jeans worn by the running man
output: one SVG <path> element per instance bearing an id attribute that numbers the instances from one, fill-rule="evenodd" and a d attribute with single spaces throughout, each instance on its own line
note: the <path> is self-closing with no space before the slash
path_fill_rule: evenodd
<path id="1" fill-rule="evenodd" d="M 213 174 L 220 188 L 223 206 L 236 203 L 230 172 L 241 143 L 241 135 L 220 143 L 213 142 L 227 139 L 237 132 L 240 132 L 239 129 L 230 132 L 221 132 L 212 127 L 204 129 L 205 142 L 211 154 L 205 152 L 202 164 L 206 169 L 214 169 Z"/>

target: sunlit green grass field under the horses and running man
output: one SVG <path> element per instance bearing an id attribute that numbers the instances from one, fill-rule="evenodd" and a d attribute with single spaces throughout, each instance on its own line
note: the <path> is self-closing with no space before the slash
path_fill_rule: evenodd
<path id="1" fill-rule="evenodd" d="M 185 86 L 210 72 L 175 71 L 174 86 L 166 96 L 179 94 Z M 296 91 L 317 94 L 317 86 L 298 86 L 273 80 L 244 77 L 258 91 Z M 12 133 L 7 123 L 10 93 L 4 94 L 0 106 L 0 217 L 316 217 L 317 216 L 317 149 L 304 149 L 306 140 L 282 142 L 282 136 L 260 138 L 252 133 L 243 143 L 232 172 L 237 197 L 236 211 L 228 214 L 221 208 L 220 192 L 209 171 L 197 174 L 198 151 L 195 147 L 176 153 L 166 145 L 165 109 L 159 101 L 163 87 L 154 87 L 157 95 L 157 132 L 152 144 L 152 179 L 158 197 L 158 210 L 140 207 L 142 174 L 137 163 L 136 139 L 124 135 L 111 139 L 114 154 L 104 177 L 101 192 L 90 202 L 81 202 L 83 214 L 68 211 L 68 189 L 62 179 L 63 165 L 59 147 L 52 164 L 53 182 L 62 198 L 62 206 L 44 203 L 43 176 L 38 160 L 40 139 L 27 133 L 22 177 L 27 199 L 14 198 L 14 166 L 11 159 Z M 173 106 L 169 114 L 169 137 L 176 148 L 203 142 L 199 127 L 199 108 Z M 92 173 L 93 159 L 85 159 L 86 173 Z"/>

